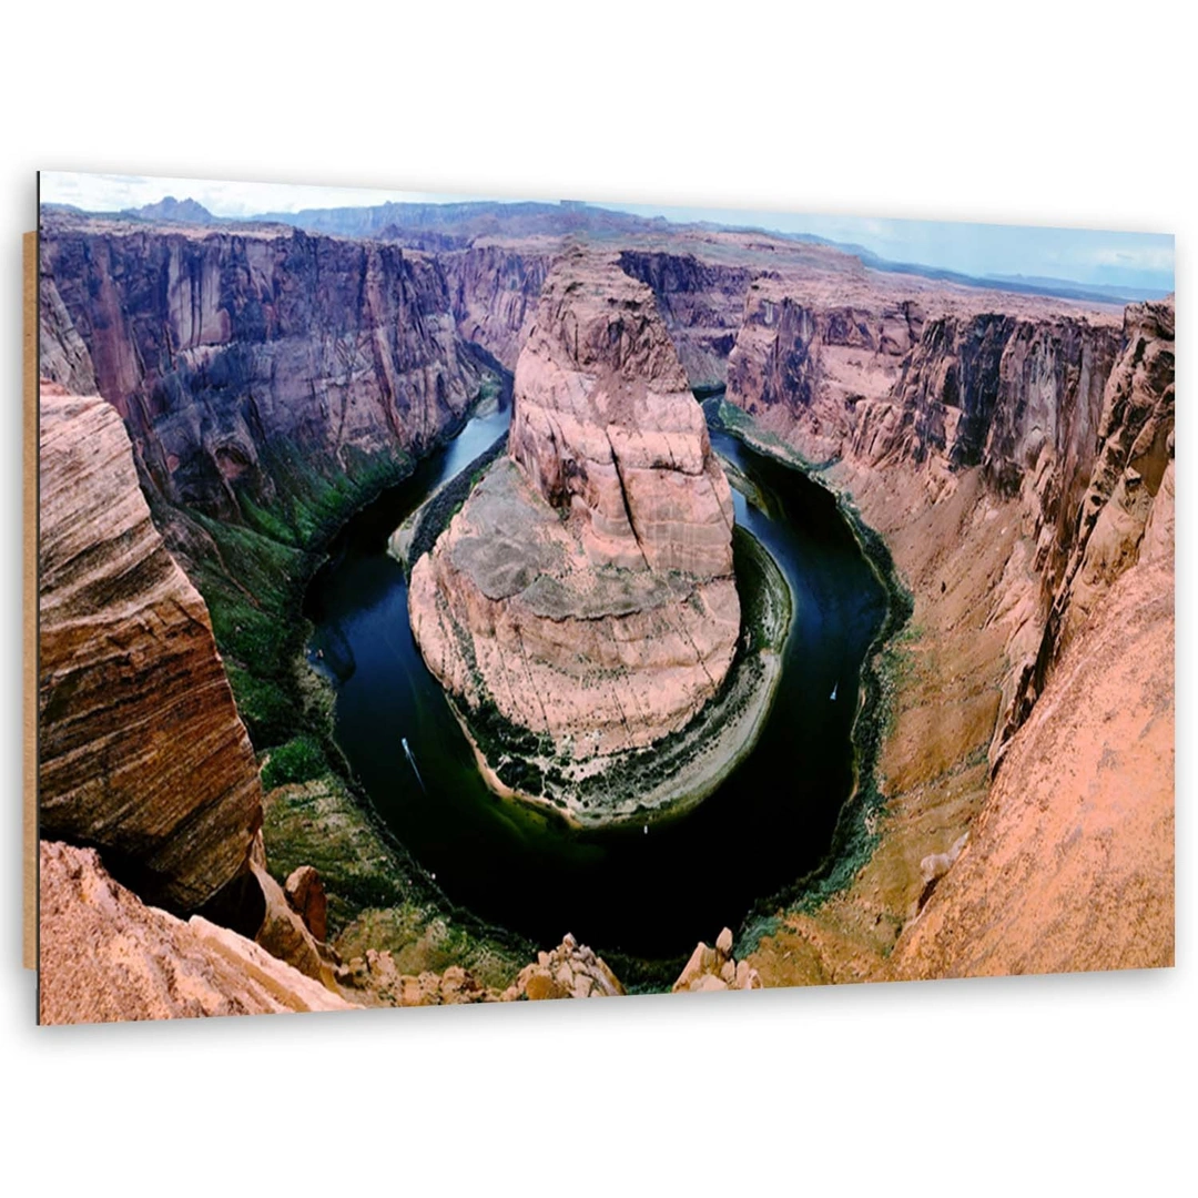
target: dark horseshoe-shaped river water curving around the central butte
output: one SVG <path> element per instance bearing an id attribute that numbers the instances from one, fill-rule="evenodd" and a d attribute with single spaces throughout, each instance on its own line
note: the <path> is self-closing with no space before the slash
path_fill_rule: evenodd
<path id="1" fill-rule="evenodd" d="M 757 748 L 696 811 L 648 834 L 579 833 L 500 800 L 424 667 L 404 571 L 386 540 L 506 431 L 509 416 L 471 420 L 346 526 L 308 592 L 310 657 L 333 677 L 335 736 L 358 782 L 450 900 L 544 945 L 573 932 L 600 952 L 677 957 L 736 927 L 756 898 L 828 853 L 852 787 L 858 676 L 885 594 L 828 492 L 714 431 L 715 449 L 761 495 L 756 507 L 733 492 L 737 521 L 769 549 L 795 599 Z"/>

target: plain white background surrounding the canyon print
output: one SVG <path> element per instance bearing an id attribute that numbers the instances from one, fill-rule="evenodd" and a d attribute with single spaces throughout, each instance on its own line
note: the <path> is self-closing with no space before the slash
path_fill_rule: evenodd
<path id="1" fill-rule="evenodd" d="M 1196 67 L 1180 17 L 1161 4 L 1009 0 L 804 10 L 25 4 L 6 16 L 7 1169 L 50 1192 L 159 1194 L 255 1182 L 1151 1194 L 1193 1184 L 1185 470 L 1172 972 L 32 1025 L 32 978 L 16 968 L 17 235 L 32 226 L 40 167 L 1173 231 L 1186 459 Z M 718 867 L 696 861 L 696 888 Z"/>

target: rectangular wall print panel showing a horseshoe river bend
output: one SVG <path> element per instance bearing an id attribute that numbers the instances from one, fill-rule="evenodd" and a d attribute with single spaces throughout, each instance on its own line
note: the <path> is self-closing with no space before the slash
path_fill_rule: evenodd
<path id="1" fill-rule="evenodd" d="M 1173 963 L 1172 238 L 182 182 L 29 246 L 42 1022 Z"/>

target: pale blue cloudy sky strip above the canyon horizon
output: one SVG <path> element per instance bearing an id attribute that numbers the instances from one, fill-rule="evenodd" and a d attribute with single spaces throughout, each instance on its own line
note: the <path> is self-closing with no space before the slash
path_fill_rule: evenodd
<path id="1" fill-rule="evenodd" d="M 240 183 L 222 180 L 167 179 L 144 175 L 90 175 L 43 171 L 43 202 L 73 204 L 89 212 L 116 212 L 153 204 L 164 195 L 190 198 L 222 217 L 302 208 L 357 207 L 395 202 L 446 204 L 464 200 L 512 201 L 510 195 L 447 195 L 379 188 L 288 183 Z M 916 262 L 963 274 L 1028 276 L 1173 290 L 1173 236 L 1052 229 L 1033 225 L 968 224 L 951 220 L 896 220 L 867 216 L 817 216 L 752 208 L 668 207 L 609 204 L 603 207 L 637 216 L 664 216 L 686 223 L 805 232 L 863 246 L 895 262 Z"/>

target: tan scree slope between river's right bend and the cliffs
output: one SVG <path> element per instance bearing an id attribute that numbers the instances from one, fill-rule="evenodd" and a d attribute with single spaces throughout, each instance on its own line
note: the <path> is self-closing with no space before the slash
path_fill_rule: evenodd
<path id="1" fill-rule="evenodd" d="M 968 836 L 990 791 L 1006 657 L 1005 634 L 986 613 L 1018 539 L 1016 504 L 987 495 L 976 471 L 932 504 L 910 474 L 812 467 L 745 413 L 733 419 L 762 453 L 837 495 L 867 541 L 887 550 L 893 583 L 910 601 L 907 621 L 870 658 L 878 718 L 858 726 L 872 728 L 875 744 L 860 746 L 860 798 L 845 811 L 855 842 L 843 852 L 841 841 L 839 866 L 815 885 L 763 904 L 743 931 L 743 951 L 767 986 L 882 978 L 930 893 L 922 863 Z"/>

